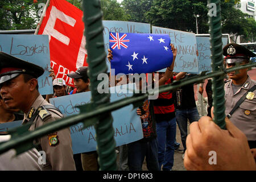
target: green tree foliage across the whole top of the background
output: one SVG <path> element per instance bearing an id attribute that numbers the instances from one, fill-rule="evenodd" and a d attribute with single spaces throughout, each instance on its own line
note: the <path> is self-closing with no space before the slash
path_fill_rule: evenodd
<path id="1" fill-rule="evenodd" d="M 82 9 L 82 0 L 66 0 Z M 40 3 L 47 0 L 1 0 L 0 30 L 35 29 L 39 22 Z M 255 40 L 255 20 L 246 18 L 234 8 L 239 0 L 222 0 L 222 33 Z M 104 20 L 123 20 L 151 23 L 153 26 L 196 32 L 196 15 L 199 34 L 208 34 L 207 0 L 101 0 Z M 236 40 L 234 40 L 236 41 Z"/>

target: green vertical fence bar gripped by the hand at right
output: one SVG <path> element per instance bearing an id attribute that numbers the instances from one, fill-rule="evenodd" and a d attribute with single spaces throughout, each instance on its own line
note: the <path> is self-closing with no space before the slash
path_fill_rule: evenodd
<path id="1" fill-rule="evenodd" d="M 221 10 L 220 0 L 208 0 L 208 16 L 209 16 L 209 34 L 210 34 L 210 58 L 212 59 L 212 71 L 223 70 L 222 58 L 222 32 L 221 32 Z M 224 92 L 224 76 L 213 77 L 213 121 L 226 129 L 225 123 L 225 92 Z"/>

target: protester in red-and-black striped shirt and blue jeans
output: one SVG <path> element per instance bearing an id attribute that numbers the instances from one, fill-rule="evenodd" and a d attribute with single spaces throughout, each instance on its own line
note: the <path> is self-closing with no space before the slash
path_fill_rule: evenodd
<path id="1" fill-rule="evenodd" d="M 159 78 L 162 77 L 163 73 L 159 73 Z M 170 78 L 164 84 L 170 84 L 175 78 Z M 171 92 L 160 93 L 158 99 L 154 100 L 154 113 L 158 137 L 159 167 L 163 166 L 163 171 L 171 171 L 174 166 L 176 140 L 175 108 Z"/>

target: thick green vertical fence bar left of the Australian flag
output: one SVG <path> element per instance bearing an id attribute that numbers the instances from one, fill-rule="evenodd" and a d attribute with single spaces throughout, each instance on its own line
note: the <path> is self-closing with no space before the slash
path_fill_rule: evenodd
<path id="1" fill-rule="evenodd" d="M 92 93 L 92 104 L 97 106 L 110 102 L 110 94 L 100 94 L 97 86 L 100 81 L 97 76 L 106 73 L 106 53 L 104 50 L 104 39 L 102 26 L 102 11 L 100 0 L 83 0 L 86 49 L 88 53 L 87 63 L 89 65 L 88 76 L 90 78 L 90 90 Z M 100 170 L 116 170 L 117 156 L 115 154 L 115 140 L 113 129 L 113 118 L 111 113 L 98 116 L 98 122 L 94 125 L 96 130 L 98 163 Z"/>

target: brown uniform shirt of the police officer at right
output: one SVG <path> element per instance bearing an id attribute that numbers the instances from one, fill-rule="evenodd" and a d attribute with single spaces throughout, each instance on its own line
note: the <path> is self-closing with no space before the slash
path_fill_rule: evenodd
<path id="1" fill-rule="evenodd" d="M 238 100 L 256 84 L 248 76 L 246 82 L 236 93 L 233 93 L 232 80 L 225 84 L 225 114 L 229 114 Z M 253 91 L 253 98 L 245 98 L 242 104 L 234 111 L 230 121 L 238 127 L 247 137 L 247 140 L 256 140 L 256 90 Z"/>

